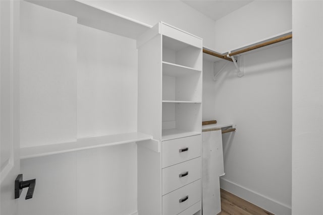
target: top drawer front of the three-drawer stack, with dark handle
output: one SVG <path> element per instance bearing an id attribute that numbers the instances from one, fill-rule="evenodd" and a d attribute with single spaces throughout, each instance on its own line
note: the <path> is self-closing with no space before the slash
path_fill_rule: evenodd
<path id="1" fill-rule="evenodd" d="M 169 167 L 201 156 L 201 135 L 163 141 L 162 167 Z"/>

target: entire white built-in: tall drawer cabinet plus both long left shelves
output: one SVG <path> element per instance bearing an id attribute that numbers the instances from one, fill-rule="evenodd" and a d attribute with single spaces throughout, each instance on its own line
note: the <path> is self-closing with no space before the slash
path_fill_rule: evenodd
<path id="1" fill-rule="evenodd" d="M 27 144 L 21 148 L 21 159 L 140 142 L 138 213 L 201 214 L 202 39 L 163 22 L 150 28 L 88 1 L 28 2 L 76 17 L 79 24 L 137 40 L 138 132 Z M 182 167 L 195 174 L 179 177 Z M 176 183 L 166 177 L 172 171 Z M 169 187 L 167 192 L 163 187 Z"/>

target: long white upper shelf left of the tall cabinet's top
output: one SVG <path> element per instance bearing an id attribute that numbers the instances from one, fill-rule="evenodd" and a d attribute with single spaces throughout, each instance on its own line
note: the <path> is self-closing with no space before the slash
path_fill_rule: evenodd
<path id="1" fill-rule="evenodd" d="M 77 22 L 91 28 L 137 39 L 151 26 L 91 5 L 90 1 L 27 0 L 30 3 L 59 11 L 74 17 Z"/>

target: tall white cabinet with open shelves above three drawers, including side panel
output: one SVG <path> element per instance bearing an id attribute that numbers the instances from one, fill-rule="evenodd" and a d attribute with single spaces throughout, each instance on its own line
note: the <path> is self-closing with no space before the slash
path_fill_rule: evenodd
<path id="1" fill-rule="evenodd" d="M 201 214 L 202 39 L 160 22 L 137 47 L 138 131 L 161 142 L 138 145 L 138 213 Z"/>

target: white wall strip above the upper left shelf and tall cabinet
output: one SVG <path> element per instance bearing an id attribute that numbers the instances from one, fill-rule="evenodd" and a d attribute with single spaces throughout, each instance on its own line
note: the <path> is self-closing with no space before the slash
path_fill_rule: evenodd
<path id="1" fill-rule="evenodd" d="M 203 46 L 214 49 L 214 21 L 181 1 L 83 1 L 93 6 L 155 25 L 163 21 L 203 38 Z"/>

